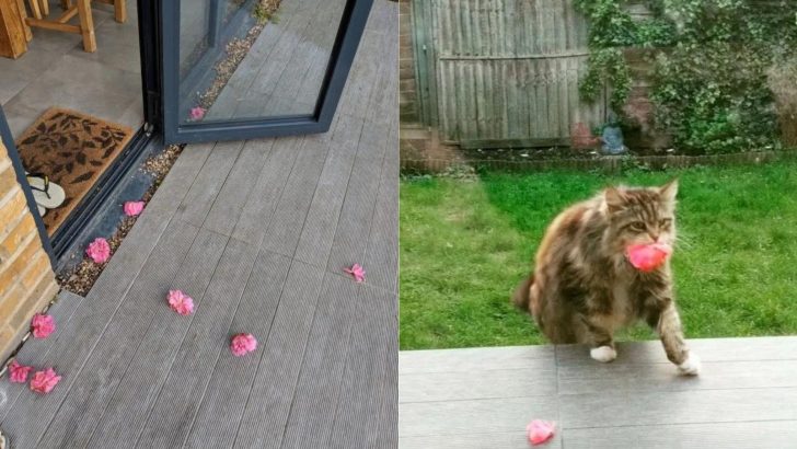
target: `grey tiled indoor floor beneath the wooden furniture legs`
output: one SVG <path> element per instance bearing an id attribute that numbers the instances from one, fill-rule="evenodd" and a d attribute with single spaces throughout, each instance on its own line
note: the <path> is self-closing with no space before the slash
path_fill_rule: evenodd
<path id="1" fill-rule="evenodd" d="M 50 1 L 50 18 L 60 1 Z M 114 21 L 113 7 L 92 4 L 96 51 L 83 50 L 79 34 L 32 28 L 28 50 L 0 57 L 0 104 L 18 138 L 53 106 L 79 111 L 138 129 L 143 124 L 136 1 L 127 21 Z"/>

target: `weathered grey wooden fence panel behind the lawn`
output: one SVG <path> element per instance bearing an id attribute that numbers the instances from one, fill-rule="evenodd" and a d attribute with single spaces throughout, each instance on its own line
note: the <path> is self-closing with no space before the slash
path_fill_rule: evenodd
<path id="1" fill-rule="evenodd" d="M 607 117 L 579 79 L 587 23 L 573 0 L 413 0 L 420 119 L 463 147 L 568 145 Z"/>

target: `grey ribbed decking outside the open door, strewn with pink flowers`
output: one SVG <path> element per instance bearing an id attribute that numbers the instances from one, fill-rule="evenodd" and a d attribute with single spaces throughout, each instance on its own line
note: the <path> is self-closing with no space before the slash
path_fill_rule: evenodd
<path id="1" fill-rule="evenodd" d="M 91 292 L 20 353 L 61 382 L 0 381 L 13 449 L 396 446 L 396 35 L 377 0 L 330 133 L 184 150 Z M 231 355 L 238 332 L 254 354 Z"/>

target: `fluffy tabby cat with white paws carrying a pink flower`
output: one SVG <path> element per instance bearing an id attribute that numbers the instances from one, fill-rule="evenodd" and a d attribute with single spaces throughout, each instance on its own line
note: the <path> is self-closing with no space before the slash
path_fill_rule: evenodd
<path id="1" fill-rule="evenodd" d="M 591 345 L 599 361 L 617 356 L 612 335 L 645 320 L 681 373 L 700 371 L 672 296 L 669 262 L 643 273 L 625 256 L 637 243 L 675 240 L 678 182 L 661 187 L 610 187 L 559 214 L 536 253 L 534 272 L 515 292 L 552 343 Z"/>

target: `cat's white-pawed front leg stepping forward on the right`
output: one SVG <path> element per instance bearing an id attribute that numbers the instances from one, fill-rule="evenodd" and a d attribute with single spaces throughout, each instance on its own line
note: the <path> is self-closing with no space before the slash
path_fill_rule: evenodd
<path id="1" fill-rule="evenodd" d="M 667 299 L 660 304 L 648 311 L 648 324 L 658 332 L 667 358 L 678 366 L 678 370 L 682 375 L 696 376 L 701 370 L 701 361 L 683 339 L 681 318 L 674 302 Z"/>

